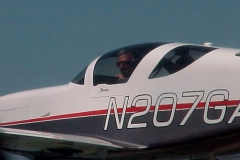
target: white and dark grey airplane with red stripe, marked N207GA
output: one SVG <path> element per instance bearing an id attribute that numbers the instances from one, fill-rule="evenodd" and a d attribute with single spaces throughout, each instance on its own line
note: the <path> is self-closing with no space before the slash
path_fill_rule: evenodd
<path id="1" fill-rule="evenodd" d="M 0 97 L 0 150 L 29 159 L 221 159 L 240 153 L 240 49 L 152 42 L 70 83 Z M 5 158 L 6 159 L 6 158 Z"/>

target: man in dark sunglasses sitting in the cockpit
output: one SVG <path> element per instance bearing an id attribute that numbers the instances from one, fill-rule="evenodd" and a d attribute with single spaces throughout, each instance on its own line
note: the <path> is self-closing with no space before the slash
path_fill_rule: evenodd
<path id="1" fill-rule="evenodd" d="M 121 72 L 116 75 L 117 83 L 127 82 L 135 68 L 134 55 L 132 54 L 132 51 L 121 50 L 118 53 L 118 61 L 116 65 Z"/>

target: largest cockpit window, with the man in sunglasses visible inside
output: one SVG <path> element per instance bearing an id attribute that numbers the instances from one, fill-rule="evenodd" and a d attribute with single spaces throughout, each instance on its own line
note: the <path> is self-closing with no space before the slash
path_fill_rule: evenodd
<path id="1" fill-rule="evenodd" d="M 151 50 L 163 44 L 166 43 L 133 45 L 103 55 L 95 65 L 93 85 L 127 82 L 142 58 Z"/>

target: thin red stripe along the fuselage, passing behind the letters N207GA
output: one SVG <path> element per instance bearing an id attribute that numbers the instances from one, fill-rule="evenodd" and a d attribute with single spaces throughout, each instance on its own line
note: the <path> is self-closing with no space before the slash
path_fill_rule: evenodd
<path id="1" fill-rule="evenodd" d="M 220 106 L 220 105 L 226 105 L 227 107 L 230 106 L 237 106 L 240 103 L 240 100 L 225 100 L 225 101 L 215 101 L 209 103 L 209 108 L 213 108 L 214 106 Z M 176 109 L 190 109 L 192 107 L 193 103 L 182 103 L 177 104 Z M 205 102 L 200 102 L 197 105 L 197 108 L 201 109 L 204 108 Z M 146 106 L 137 106 L 137 107 L 130 107 L 127 108 L 127 113 L 132 112 L 141 112 L 146 109 Z M 158 110 L 164 111 L 164 110 L 171 110 L 172 104 L 164 104 L 160 105 Z M 154 111 L 155 106 L 150 107 L 150 111 Z M 118 108 L 117 112 L 121 114 L 123 111 L 122 108 Z M 111 110 L 111 113 L 113 114 L 113 109 Z M 78 117 L 88 117 L 88 116 L 98 116 L 98 115 L 106 115 L 107 109 L 104 110 L 96 110 L 96 111 L 87 111 L 87 112 L 79 112 L 79 113 L 71 113 L 71 114 L 63 114 L 63 115 L 56 115 L 56 116 L 49 116 L 49 117 L 40 117 L 40 118 L 33 118 L 33 119 L 27 119 L 27 120 L 21 120 L 21 121 L 15 121 L 15 122 L 6 122 L 1 123 L 0 126 L 8 126 L 8 125 L 17 125 L 17 124 L 25 124 L 25 123 L 36 123 L 36 122 L 44 122 L 44 121 L 54 121 L 54 120 L 61 120 L 61 119 L 71 119 L 71 118 L 78 118 Z"/>

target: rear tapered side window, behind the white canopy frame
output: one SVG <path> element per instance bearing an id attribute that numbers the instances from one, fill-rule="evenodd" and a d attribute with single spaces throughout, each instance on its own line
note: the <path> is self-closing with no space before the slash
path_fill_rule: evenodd
<path id="1" fill-rule="evenodd" d="M 149 79 L 164 77 L 178 72 L 214 49 L 216 48 L 201 46 L 177 47 L 160 60 L 150 74 Z"/>

